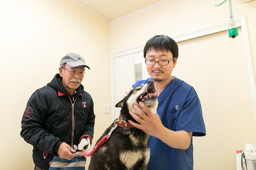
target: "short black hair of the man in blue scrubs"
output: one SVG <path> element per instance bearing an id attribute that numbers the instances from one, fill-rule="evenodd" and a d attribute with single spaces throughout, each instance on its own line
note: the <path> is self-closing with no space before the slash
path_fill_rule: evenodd
<path id="1" fill-rule="evenodd" d="M 174 58 L 178 58 L 179 56 L 177 43 L 166 35 L 156 35 L 148 40 L 144 47 L 144 59 L 146 58 L 146 53 L 150 50 L 170 51 Z"/>

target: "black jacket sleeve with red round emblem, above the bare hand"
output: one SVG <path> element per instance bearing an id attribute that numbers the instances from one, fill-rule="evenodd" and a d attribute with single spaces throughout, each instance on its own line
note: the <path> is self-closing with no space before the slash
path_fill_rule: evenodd
<path id="1" fill-rule="evenodd" d="M 60 139 L 44 130 L 48 110 L 43 95 L 38 90 L 31 95 L 22 116 L 20 135 L 27 143 L 40 150 L 54 153 L 54 145 L 60 142 Z"/>

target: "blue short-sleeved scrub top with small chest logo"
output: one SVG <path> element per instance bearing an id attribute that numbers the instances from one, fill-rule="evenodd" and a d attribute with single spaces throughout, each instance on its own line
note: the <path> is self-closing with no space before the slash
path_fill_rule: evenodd
<path id="1" fill-rule="evenodd" d="M 140 86 L 152 78 L 137 81 Z M 170 130 L 193 132 L 192 136 L 205 136 L 201 103 L 195 89 L 174 77 L 158 96 L 157 113 L 162 124 Z M 188 149 L 175 149 L 151 136 L 149 138 L 149 170 L 193 170 L 193 138 Z"/>

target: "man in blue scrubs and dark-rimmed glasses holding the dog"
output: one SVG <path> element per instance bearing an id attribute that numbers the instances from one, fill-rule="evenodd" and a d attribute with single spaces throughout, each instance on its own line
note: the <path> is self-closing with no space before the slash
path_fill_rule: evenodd
<path id="1" fill-rule="evenodd" d="M 149 138 L 149 170 L 193 170 L 192 136 L 205 136 L 201 103 L 195 89 L 172 76 L 177 64 L 178 45 L 168 36 L 152 37 L 144 47 L 147 80 L 137 81 L 132 87 L 154 81 L 157 87 L 158 108 L 154 115 L 142 102 L 146 114 L 134 106 L 139 116 L 129 113 L 138 122 L 129 122 Z M 128 94 L 128 92 L 126 92 Z"/>

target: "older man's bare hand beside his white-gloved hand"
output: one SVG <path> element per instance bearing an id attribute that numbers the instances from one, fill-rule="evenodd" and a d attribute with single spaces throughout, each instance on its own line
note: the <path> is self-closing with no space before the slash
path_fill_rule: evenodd
<path id="1" fill-rule="evenodd" d="M 74 153 L 75 150 L 65 142 L 59 146 L 58 155 L 62 159 L 72 160 L 76 156 Z"/>

